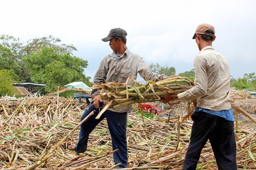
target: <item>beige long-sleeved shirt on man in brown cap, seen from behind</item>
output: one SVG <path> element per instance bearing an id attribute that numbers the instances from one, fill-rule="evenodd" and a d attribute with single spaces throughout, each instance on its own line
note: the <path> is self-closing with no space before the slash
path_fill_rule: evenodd
<path id="1" fill-rule="evenodd" d="M 179 93 L 179 100 L 187 102 L 197 99 L 197 107 L 211 111 L 230 109 L 230 73 L 227 59 L 214 51 L 213 46 L 206 46 L 195 57 L 194 67 L 195 86 Z"/>

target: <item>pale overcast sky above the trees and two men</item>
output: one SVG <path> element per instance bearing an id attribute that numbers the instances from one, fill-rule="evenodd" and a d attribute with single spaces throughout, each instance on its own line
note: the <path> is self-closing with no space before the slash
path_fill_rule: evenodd
<path id="1" fill-rule="evenodd" d="M 92 78 L 112 52 L 101 39 L 116 27 L 127 31 L 128 49 L 148 66 L 190 71 L 199 52 L 192 36 L 201 23 L 215 27 L 213 47 L 234 78 L 256 72 L 256 0 L 0 0 L 0 7 L 0 34 L 24 43 L 52 35 L 73 44 Z"/>

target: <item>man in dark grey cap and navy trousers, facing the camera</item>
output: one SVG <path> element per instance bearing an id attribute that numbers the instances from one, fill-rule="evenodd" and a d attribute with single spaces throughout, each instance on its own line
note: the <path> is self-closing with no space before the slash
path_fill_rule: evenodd
<path id="1" fill-rule="evenodd" d="M 151 80 L 154 82 L 168 78 L 168 76 L 150 71 L 139 55 L 130 52 L 126 46 L 126 36 L 127 32 L 125 30 L 114 28 L 109 32 L 108 36 L 102 38 L 102 41 L 109 41 L 109 46 L 113 52 L 104 57 L 101 61 L 93 79 L 93 85 L 105 82 L 125 83 L 127 82 L 128 77 L 136 79 L 138 73 L 144 80 Z M 112 149 L 118 149 L 113 153 L 114 162 L 115 164 L 121 163 L 119 168 L 125 168 L 128 163 L 126 141 L 127 112 L 132 110 L 132 105 L 122 106 L 116 109 L 109 108 L 101 115 L 100 119 L 96 119 L 96 116 L 103 105 L 102 99 L 100 95 L 98 95 L 98 90 L 99 89 L 93 89 L 91 92 L 91 95 L 94 96 L 94 98 L 86 108 L 81 120 L 93 110 L 96 110 L 96 112 L 81 125 L 79 141 L 75 146 L 70 145 L 69 149 L 75 150 L 77 153 L 85 152 L 89 134 L 101 120 L 106 118 L 112 139 Z"/>

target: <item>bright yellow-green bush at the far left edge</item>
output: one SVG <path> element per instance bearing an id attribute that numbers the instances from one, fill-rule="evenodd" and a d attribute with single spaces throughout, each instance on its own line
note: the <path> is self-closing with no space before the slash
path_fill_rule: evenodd
<path id="1" fill-rule="evenodd" d="M 0 96 L 13 96 L 15 93 L 15 87 L 13 83 L 14 72 L 12 70 L 0 69 Z"/>

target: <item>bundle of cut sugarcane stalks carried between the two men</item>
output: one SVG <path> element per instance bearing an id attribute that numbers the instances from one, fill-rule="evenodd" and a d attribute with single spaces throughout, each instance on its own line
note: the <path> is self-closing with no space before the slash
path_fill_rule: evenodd
<path id="1" fill-rule="evenodd" d="M 131 77 L 128 78 L 127 82 Z M 128 83 L 105 83 L 94 86 L 101 88 L 100 95 L 108 108 L 117 108 L 132 103 L 144 103 L 161 100 L 161 95 L 177 94 L 194 86 L 187 77 L 171 77 L 158 82 L 147 81 L 141 85 Z"/>

